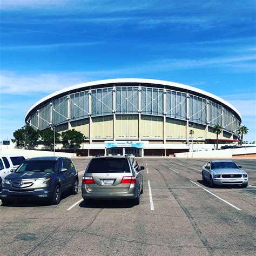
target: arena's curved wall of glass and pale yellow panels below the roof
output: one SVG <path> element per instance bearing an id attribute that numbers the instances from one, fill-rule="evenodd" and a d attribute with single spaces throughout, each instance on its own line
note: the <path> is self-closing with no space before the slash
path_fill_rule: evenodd
<path id="1" fill-rule="evenodd" d="M 62 126 L 63 129 L 68 129 L 66 123 L 70 122 L 71 127 L 79 127 L 87 137 L 89 136 L 89 117 L 91 116 L 94 118 L 93 129 L 95 129 L 92 133 L 93 138 L 112 138 L 113 128 L 110 126 L 113 126 L 113 120 L 115 120 L 117 124 L 116 138 L 138 138 L 138 125 L 141 125 L 142 138 L 161 139 L 164 136 L 163 117 L 166 116 L 166 139 L 183 138 L 186 120 L 197 124 L 198 138 L 204 138 L 204 134 L 207 134 L 205 132 L 207 124 L 209 127 L 216 124 L 223 126 L 226 132 L 225 137 L 229 136 L 227 133 L 237 133 L 238 118 L 227 107 L 211 100 L 191 93 L 146 87 L 143 84 L 138 84 L 138 86 L 117 85 L 67 93 L 67 95 L 52 99 L 45 105 L 39 106 L 26 122 L 39 130 L 46 129 L 52 124 L 65 124 Z M 113 113 L 116 113 L 115 119 L 113 119 Z M 142 114 L 140 124 L 139 113 Z M 105 118 L 107 120 L 95 118 L 104 116 L 107 116 Z M 85 123 L 77 122 L 83 119 L 86 119 Z M 107 122 L 106 125 L 104 122 Z M 129 125 L 133 127 L 131 130 Z M 107 132 L 101 131 L 103 128 L 107 129 Z M 154 130 L 151 131 L 151 129 Z"/>

